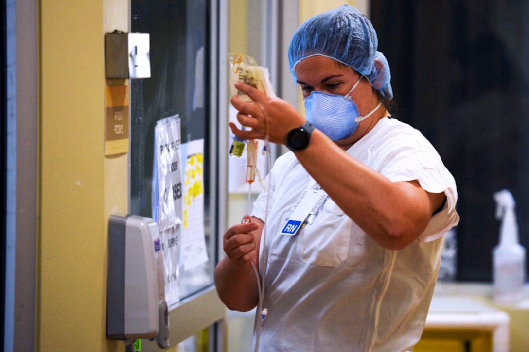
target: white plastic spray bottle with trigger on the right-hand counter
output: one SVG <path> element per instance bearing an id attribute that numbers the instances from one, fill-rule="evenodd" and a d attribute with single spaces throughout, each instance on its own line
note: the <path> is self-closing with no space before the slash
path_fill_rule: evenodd
<path id="1" fill-rule="evenodd" d="M 496 218 L 501 220 L 499 244 L 492 251 L 494 300 L 516 303 L 523 299 L 525 248 L 518 243 L 513 195 L 506 189 L 494 193 Z"/>

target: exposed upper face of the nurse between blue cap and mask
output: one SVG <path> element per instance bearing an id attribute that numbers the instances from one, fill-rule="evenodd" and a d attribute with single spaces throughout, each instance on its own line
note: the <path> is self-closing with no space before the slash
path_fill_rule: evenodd
<path id="1" fill-rule="evenodd" d="M 294 70 L 303 97 L 309 96 L 313 90 L 346 95 L 360 78 L 349 66 L 321 55 L 303 59 Z"/>

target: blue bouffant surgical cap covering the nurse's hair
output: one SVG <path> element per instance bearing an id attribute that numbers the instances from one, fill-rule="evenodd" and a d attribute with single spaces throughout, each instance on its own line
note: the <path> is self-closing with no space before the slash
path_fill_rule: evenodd
<path id="1" fill-rule="evenodd" d="M 387 99 L 393 98 L 391 73 L 386 57 L 377 51 L 377 32 L 366 15 L 343 5 L 302 23 L 288 46 L 290 73 L 297 80 L 296 64 L 310 56 L 338 60 L 369 79 Z"/>

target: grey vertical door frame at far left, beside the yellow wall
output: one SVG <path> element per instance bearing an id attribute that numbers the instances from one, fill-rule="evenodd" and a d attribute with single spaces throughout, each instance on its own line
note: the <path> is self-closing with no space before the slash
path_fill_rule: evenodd
<path id="1" fill-rule="evenodd" d="M 5 350 L 33 351 L 37 288 L 39 5 L 31 0 L 7 0 L 5 4 L 6 77 L 12 79 L 7 84 L 6 107 L 7 219 L 2 343 Z M 6 37 L 3 35 L 3 38 Z"/>

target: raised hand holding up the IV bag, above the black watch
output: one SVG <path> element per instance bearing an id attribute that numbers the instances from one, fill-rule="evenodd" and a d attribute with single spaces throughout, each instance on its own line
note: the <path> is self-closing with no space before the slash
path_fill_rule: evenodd
<path id="1" fill-rule="evenodd" d="M 240 82 L 235 84 L 235 88 L 253 100 L 244 101 L 237 95 L 231 99 L 233 107 L 239 110 L 237 120 L 242 126 L 251 128 L 243 131 L 230 123 L 233 134 L 243 140 L 264 140 L 268 136 L 272 143 L 285 144 L 288 132 L 305 123 L 305 118 L 287 101 L 270 98 L 262 91 Z"/>

